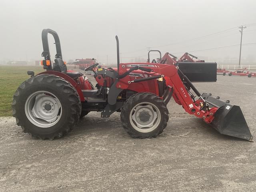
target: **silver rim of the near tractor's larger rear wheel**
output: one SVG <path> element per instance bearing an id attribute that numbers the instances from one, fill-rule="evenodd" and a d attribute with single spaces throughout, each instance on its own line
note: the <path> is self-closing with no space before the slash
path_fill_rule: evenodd
<path id="1" fill-rule="evenodd" d="M 37 91 L 28 96 L 25 103 L 28 120 L 41 128 L 54 126 L 62 115 L 60 100 L 48 91 Z"/>

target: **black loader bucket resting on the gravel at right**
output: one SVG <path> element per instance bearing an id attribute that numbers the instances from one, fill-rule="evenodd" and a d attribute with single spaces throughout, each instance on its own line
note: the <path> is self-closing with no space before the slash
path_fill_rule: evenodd
<path id="1" fill-rule="evenodd" d="M 210 124 L 213 128 L 220 134 L 252 141 L 253 136 L 239 106 L 231 105 L 205 93 L 202 97 L 209 103 L 209 106 L 219 108 Z"/>

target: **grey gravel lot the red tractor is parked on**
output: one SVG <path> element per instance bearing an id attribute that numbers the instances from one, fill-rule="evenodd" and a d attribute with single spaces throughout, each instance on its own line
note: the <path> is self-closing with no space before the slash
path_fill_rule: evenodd
<path id="1" fill-rule="evenodd" d="M 195 85 L 239 105 L 256 135 L 256 78 Z M 128 136 L 119 113 L 90 112 L 53 141 L 30 138 L 14 118 L 0 118 L 0 191 L 256 191 L 255 142 L 219 134 L 173 100 L 168 110 L 166 129 L 153 139 Z"/>

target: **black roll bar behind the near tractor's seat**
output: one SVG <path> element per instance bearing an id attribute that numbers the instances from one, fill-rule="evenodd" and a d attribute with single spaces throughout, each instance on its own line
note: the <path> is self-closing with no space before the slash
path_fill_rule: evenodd
<path id="1" fill-rule="evenodd" d="M 46 66 L 46 70 L 52 70 L 52 63 L 51 63 L 51 55 L 49 50 L 49 42 L 48 42 L 48 33 L 52 34 L 55 41 L 56 46 L 56 55 L 55 58 L 61 58 L 62 59 L 62 53 L 61 53 L 61 47 L 60 47 L 60 38 L 56 31 L 51 29 L 43 29 L 42 30 L 42 44 L 43 44 L 43 52 L 42 57 L 44 57 L 44 60 L 50 60 L 50 66 Z"/>

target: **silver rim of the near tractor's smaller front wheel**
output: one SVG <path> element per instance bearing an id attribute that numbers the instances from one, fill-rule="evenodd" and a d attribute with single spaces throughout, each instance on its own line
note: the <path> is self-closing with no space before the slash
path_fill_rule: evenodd
<path id="1" fill-rule="evenodd" d="M 141 133 L 155 130 L 161 121 L 161 113 L 158 107 L 149 102 L 142 102 L 134 106 L 130 112 L 132 127 Z"/>

